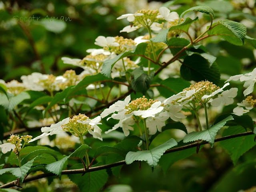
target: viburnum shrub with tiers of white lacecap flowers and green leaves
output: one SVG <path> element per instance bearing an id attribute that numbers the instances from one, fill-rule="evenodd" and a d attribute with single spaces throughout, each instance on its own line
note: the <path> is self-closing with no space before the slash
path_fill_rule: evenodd
<path id="1" fill-rule="evenodd" d="M 208 15 L 209 25 L 196 38 L 190 31 L 200 20 L 186 17 L 192 11 Z M 192 7 L 180 16 L 166 7 L 142 9 L 117 19 L 130 22 L 120 32 L 138 30 L 143 35 L 134 40 L 98 36 L 95 44 L 99 48 L 88 49 L 89 54 L 83 59 L 62 57 L 65 64 L 82 68 L 81 74 L 74 70 L 67 70 L 62 76 L 34 72 L 21 76 L 22 83 L 1 80 L 0 104 L 11 123 L 2 128 L 2 132 L 10 132 L 10 138 L 0 144 L 2 158 L 6 159 L 0 174 L 11 173 L 17 178 L 1 188 L 68 174 L 81 190 L 97 191 L 107 182 L 106 168 L 146 161 L 154 170 L 163 154 L 171 156 L 171 152 L 191 147 L 198 152 L 200 145 L 213 147 L 215 141 L 256 133 L 252 118 L 244 115 L 256 106 L 256 98 L 250 96 L 256 68 L 227 77 L 223 84 L 216 57 L 200 44 L 216 36 L 236 46 L 244 42 L 255 46 L 256 40 L 246 36 L 244 24 L 215 20 L 208 6 Z M 238 88 L 230 86 L 233 81 L 243 84 L 245 98 L 232 114 L 220 114 L 214 122 L 209 108 L 234 103 Z M 197 121 L 190 132 L 182 123 L 187 116 L 194 116 Z M 13 130 L 16 125 L 20 129 Z M 231 131 L 230 136 L 216 139 L 225 125 L 229 130 L 238 125 L 245 130 L 238 134 Z M 36 127 L 40 134 L 34 132 Z M 169 138 L 159 146 L 150 146 L 156 136 L 168 129 L 180 129 L 186 135 L 179 144 Z M 120 136 L 120 130 L 124 136 Z M 21 132 L 28 135 L 20 136 Z M 3 136 L 7 138 L 8 133 Z M 49 136 L 55 136 L 55 140 L 50 141 Z M 122 140 L 110 146 L 94 145 L 95 140 L 102 142 L 105 138 Z M 72 151 L 63 156 L 61 151 L 42 146 L 45 142 L 56 147 L 71 146 Z M 237 161 L 244 152 L 237 152 L 238 157 L 232 156 L 232 160 Z M 70 166 L 70 159 L 78 164 Z M 39 170 L 44 173 L 34 174 Z"/>

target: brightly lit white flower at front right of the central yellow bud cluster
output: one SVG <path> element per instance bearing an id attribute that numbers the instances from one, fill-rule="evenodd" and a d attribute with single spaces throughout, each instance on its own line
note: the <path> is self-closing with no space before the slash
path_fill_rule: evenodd
<path id="1" fill-rule="evenodd" d="M 158 101 L 153 103 L 147 110 L 134 111 L 134 115 L 141 116 L 142 118 L 155 117 L 156 114 L 160 113 L 163 109 L 164 107 L 161 106 L 161 102 Z"/>

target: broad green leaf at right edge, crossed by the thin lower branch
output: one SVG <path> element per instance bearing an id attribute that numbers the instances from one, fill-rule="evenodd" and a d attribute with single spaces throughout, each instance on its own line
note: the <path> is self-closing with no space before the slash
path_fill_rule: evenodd
<path id="1" fill-rule="evenodd" d="M 242 126 L 230 126 L 223 131 L 222 136 L 224 137 L 243 132 L 244 128 Z M 255 145 L 256 142 L 254 142 L 254 135 L 236 137 L 220 141 L 220 146 L 222 146 L 222 148 L 224 148 L 228 154 L 230 154 L 234 165 L 237 164 L 240 156 L 242 156 L 246 151 L 250 150 Z"/>

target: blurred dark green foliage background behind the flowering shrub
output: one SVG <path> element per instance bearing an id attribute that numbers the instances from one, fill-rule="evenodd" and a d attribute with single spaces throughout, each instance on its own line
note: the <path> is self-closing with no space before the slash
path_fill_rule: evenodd
<path id="1" fill-rule="evenodd" d="M 178 14 L 184 10 L 204 4 L 211 6 L 216 18 L 229 18 L 246 24 L 248 35 L 256 37 L 256 10 L 253 0 L 223 1 L 222 6 L 217 0 L 174 0 L 165 4 L 176 10 Z M 129 23 L 116 20 L 118 16 L 134 13 L 139 9 L 156 9 L 162 2 L 147 2 L 146 0 L 30 0 L 30 1 L 0 1 L 0 79 L 6 82 L 32 72 L 60 75 L 68 69 L 82 69 L 63 64 L 62 56 L 84 58 L 86 50 L 98 48 L 94 45 L 99 36 L 122 35 L 135 38 L 138 32 L 130 34 L 119 31 Z M 38 21 L 16 22 L 13 18 L 30 16 L 40 17 Z M 48 16 L 58 17 L 58 21 L 44 19 Z M 61 17 L 70 18 L 60 21 Z M 199 23 L 195 28 L 195 36 L 205 23 Z M 222 74 L 235 75 L 244 73 L 256 67 L 255 49 L 246 45 L 234 46 L 228 42 L 210 39 L 204 42 L 208 51 L 217 57 Z M 242 98 L 242 96 L 241 96 Z M 232 107 L 230 107 L 232 108 Z M 226 110 L 230 110 L 227 108 Z M 166 131 L 159 138 L 160 143 L 168 138 L 173 130 Z M 157 140 L 157 139 L 156 139 Z M 107 142 L 107 141 L 106 141 Z M 235 142 L 235 140 L 234 140 Z M 190 149 L 194 153 L 195 148 Z M 239 158 L 238 166 L 234 168 L 227 152 L 216 143 L 213 150 L 208 146 L 189 158 L 175 162 L 166 173 L 159 166 L 152 170 L 145 163 L 134 163 L 124 166 L 121 175 L 110 180 L 103 188 L 108 192 L 238 192 L 256 191 L 256 147 Z M 186 151 L 189 154 L 189 151 Z M 108 170 L 109 171 L 109 170 Z M 8 178 L 9 180 L 10 178 Z M 1 177 L 4 182 L 4 178 Z M 118 184 L 118 185 L 117 185 Z M 20 189 L 22 190 L 22 189 Z M 47 180 L 26 184 L 22 191 L 78 191 L 79 189 L 65 176 L 59 181 L 54 179 L 48 186 Z"/>

